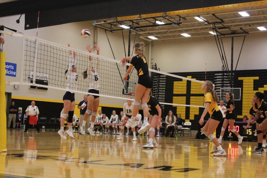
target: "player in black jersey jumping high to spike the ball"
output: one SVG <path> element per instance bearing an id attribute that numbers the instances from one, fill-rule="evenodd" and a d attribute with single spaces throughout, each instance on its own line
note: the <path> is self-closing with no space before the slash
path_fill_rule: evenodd
<path id="1" fill-rule="evenodd" d="M 138 83 L 136 85 L 135 89 L 135 98 L 134 98 L 134 107 L 132 111 L 132 117 L 128 120 L 128 126 L 131 126 L 135 124 L 135 118 L 139 111 L 139 104 L 141 100 L 141 106 L 143 108 L 144 113 L 144 124 L 142 128 L 139 129 L 138 133 L 141 134 L 145 132 L 148 128 L 150 128 L 148 120 L 148 107 L 147 107 L 147 98 L 149 97 L 149 92 L 152 88 L 153 82 L 151 77 L 149 76 L 148 66 L 147 66 L 147 60 L 144 57 L 144 43 L 136 43 L 134 45 L 134 53 L 136 56 L 134 57 L 126 57 L 123 58 L 121 63 L 123 65 L 126 64 L 126 61 L 131 61 L 131 64 L 126 71 L 125 76 L 123 77 L 123 80 L 127 80 L 128 75 L 131 73 L 131 70 L 133 67 L 137 70 L 138 74 Z"/>

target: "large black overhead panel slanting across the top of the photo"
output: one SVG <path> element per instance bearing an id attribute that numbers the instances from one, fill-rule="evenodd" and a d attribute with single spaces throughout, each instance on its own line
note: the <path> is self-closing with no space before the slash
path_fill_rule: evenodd
<path id="1" fill-rule="evenodd" d="M 20 0 L 1 4 L 1 16 L 25 13 L 25 29 L 128 15 L 250 2 L 251 0 Z M 4 24 L 2 24 L 4 25 Z"/>

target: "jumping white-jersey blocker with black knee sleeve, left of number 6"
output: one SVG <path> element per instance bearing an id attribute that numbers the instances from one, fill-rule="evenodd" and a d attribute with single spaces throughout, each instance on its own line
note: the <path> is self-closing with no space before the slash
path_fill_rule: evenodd
<path id="1" fill-rule="evenodd" d="M 70 44 L 68 44 L 68 47 L 70 47 Z M 76 52 L 73 51 L 73 58 L 72 58 L 72 52 L 69 50 L 69 66 L 68 69 L 66 70 L 66 88 L 67 90 L 77 90 L 76 87 L 76 81 L 78 79 L 78 75 L 76 74 L 76 64 L 77 64 L 77 55 Z M 60 130 L 58 131 L 58 134 L 61 136 L 62 139 L 65 139 L 66 136 L 64 134 L 64 123 L 66 118 L 68 117 L 68 125 L 69 125 L 69 130 L 66 131 L 66 133 L 74 138 L 72 134 L 72 117 L 74 115 L 74 108 L 75 108 L 75 98 L 74 98 L 74 93 L 71 91 L 67 91 L 65 95 L 63 96 L 63 103 L 64 103 L 64 108 L 63 108 L 63 114 L 62 118 L 60 120 Z"/>

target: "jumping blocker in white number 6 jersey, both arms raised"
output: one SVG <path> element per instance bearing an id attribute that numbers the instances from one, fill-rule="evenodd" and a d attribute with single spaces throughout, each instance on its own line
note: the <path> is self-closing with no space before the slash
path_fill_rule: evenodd
<path id="1" fill-rule="evenodd" d="M 86 49 L 88 50 L 89 53 L 92 52 L 93 48 L 90 48 L 90 45 L 87 45 Z M 95 44 L 95 49 L 97 51 L 97 55 L 99 55 L 99 46 Z M 88 62 L 88 68 L 86 71 L 83 72 L 83 78 L 89 78 L 89 90 L 88 93 L 95 93 L 99 94 L 99 76 L 98 76 L 98 69 L 99 69 L 99 59 L 96 58 L 96 68 L 93 68 L 93 61 L 92 61 L 92 56 L 89 56 L 89 62 Z M 94 136 L 95 134 L 93 133 L 93 128 L 96 120 L 96 112 L 98 109 L 99 105 L 99 96 L 88 94 L 87 97 L 88 100 L 88 105 L 87 105 L 87 110 L 83 116 L 83 122 L 81 126 L 81 134 L 85 134 L 85 124 L 88 118 L 88 115 L 91 114 L 91 125 L 88 128 L 88 131 L 90 135 Z"/>

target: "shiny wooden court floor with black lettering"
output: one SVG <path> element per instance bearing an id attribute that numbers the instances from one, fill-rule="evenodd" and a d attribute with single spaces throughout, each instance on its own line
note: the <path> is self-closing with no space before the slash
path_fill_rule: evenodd
<path id="1" fill-rule="evenodd" d="M 143 149 L 147 137 L 79 135 L 61 140 L 57 132 L 7 131 L 0 177 L 266 177 L 266 154 L 251 154 L 256 142 L 223 141 L 227 156 L 214 157 L 204 139 L 158 137 L 159 147 Z"/>

